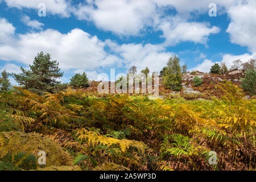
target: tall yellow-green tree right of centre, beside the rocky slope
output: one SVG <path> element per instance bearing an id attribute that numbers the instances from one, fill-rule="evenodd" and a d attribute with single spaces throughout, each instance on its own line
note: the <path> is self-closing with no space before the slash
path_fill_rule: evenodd
<path id="1" fill-rule="evenodd" d="M 172 89 L 174 91 L 180 91 L 182 89 L 182 73 L 179 61 L 180 59 L 176 55 L 174 57 L 170 57 L 168 60 L 167 69 L 164 72 L 163 77 L 163 84 L 167 89 Z"/>

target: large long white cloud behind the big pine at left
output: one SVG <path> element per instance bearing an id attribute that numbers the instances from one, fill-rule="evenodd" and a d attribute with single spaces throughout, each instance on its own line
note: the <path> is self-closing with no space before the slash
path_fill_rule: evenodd
<path id="1" fill-rule="evenodd" d="M 50 53 L 62 69 L 96 69 L 108 67 L 118 61 L 104 50 L 105 43 L 96 36 L 74 29 L 68 34 L 48 29 L 41 32 L 19 34 L 14 44 L 0 46 L 1 60 L 16 60 L 31 64 L 40 51 Z"/>

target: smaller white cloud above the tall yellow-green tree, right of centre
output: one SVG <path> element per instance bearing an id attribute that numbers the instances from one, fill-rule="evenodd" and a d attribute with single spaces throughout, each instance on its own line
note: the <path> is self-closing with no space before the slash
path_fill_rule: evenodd
<path id="1" fill-rule="evenodd" d="M 165 44 L 171 46 L 186 41 L 206 44 L 210 34 L 220 32 L 218 27 L 210 27 L 209 23 L 180 22 L 176 18 L 171 21 L 159 25 L 159 29 L 163 31 L 163 37 L 166 38 Z"/>

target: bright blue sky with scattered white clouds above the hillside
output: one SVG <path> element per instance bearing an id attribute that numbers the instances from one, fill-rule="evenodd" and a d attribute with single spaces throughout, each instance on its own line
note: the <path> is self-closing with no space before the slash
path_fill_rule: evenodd
<path id="1" fill-rule="evenodd" d="M 20 73 L 41 51 L 62 82 L 133 65 L 160 72 L 174 55 L 188 71 L 230 68 L 256 58 L 256 0 L 0 0 L 0 70 Z"/>

